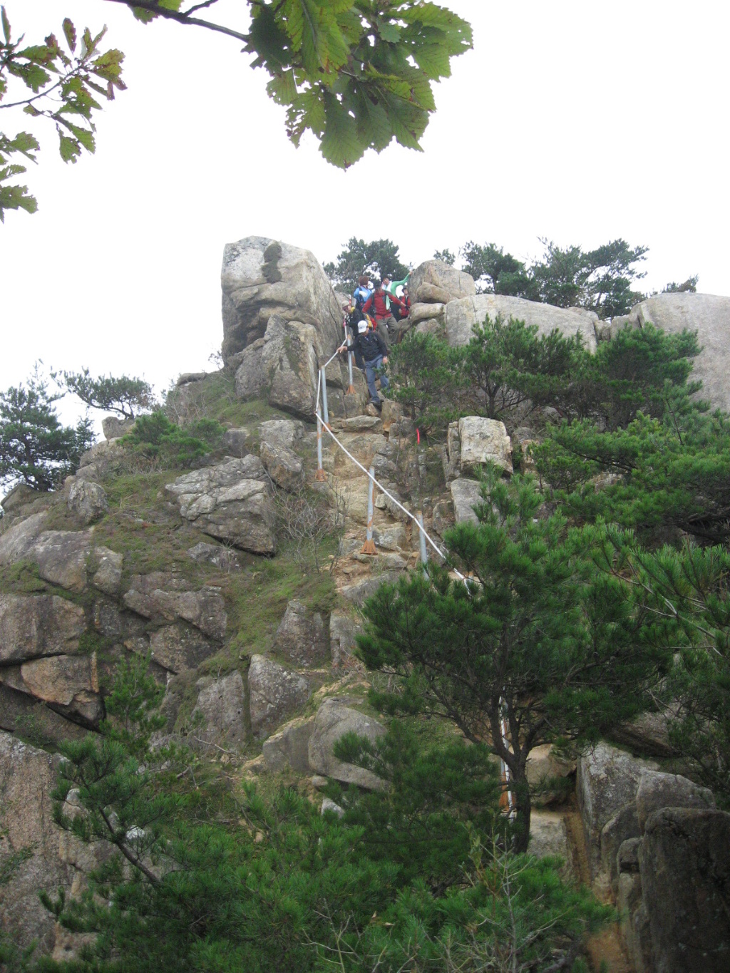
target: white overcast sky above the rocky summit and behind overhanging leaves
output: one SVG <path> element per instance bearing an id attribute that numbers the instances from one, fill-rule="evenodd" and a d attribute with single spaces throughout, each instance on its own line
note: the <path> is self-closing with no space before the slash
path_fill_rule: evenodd
<path id="1" fill-rule="evenodd" d="M 216 16 L 245 23 L 226 2 Z M 469 239 L 529 259 L 539 236 L 623 236 L 649 247 L 646 289 L 699 273 L 701 291 L 730 294 L 730 5 L 444 2 L 474 50 L 438 87 L 423 153 L 391 146 L 340 172 L 314 139 L 290 145 L 236 41 L 104 0 L 5 0 L 30 43 L 64 16 L 107 23 L 128 91 L 105 104 L 94 157 L 64 165 L 40 132 L 25 177 L 39 212 L 0 227 L 0 387 L 36 358 L 159 389 L 211 368 L 223 246 L 250 234 L 322 262 L 351 235 L 389 236 L 414 265 Z"/>

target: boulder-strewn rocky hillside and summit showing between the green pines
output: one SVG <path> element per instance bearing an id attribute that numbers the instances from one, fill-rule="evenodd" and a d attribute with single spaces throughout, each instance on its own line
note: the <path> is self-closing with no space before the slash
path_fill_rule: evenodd
<path id="1" fill-rule="evenodd" d="M 402 404 L 386 399 L 382 414 L 367 414 L 362 373 L 351 387 L 335 358 L 317 475 L 317 389 L 344 338 L 341 301 L 308 250 L 262 236 L 226 245 L 221 289 L 224 367 L 184 377 L 169 397 L 178 416 L 226 426 L 219 450 L 165 468 L 123 438 L 129 423 L 109 421 L 108 438 L 62 488 L 17 486 L 2 502 L 0 864 L 28 851 L 0 887 L 0 925 L 57 959 L 77 955 L 83 937 L 57 925 L 37 891 L 81 896 L 110 847 L 83 845 L 55 823 L 56 750 L 100 732 L 120 663 L 148 658 L 164 691 L 154 746 L 172 741 L 203 764 L 225 761 L 238 782 L 296 780 L 311 800 L 321 801 L 327 779 L 383 792 L 381 776 L 335 752 L 348 734 L 374 745 L 385 732 L 356 655 L 360 606 L 383 581 L 419 568 L 417 515 L 428 558 L 440 561 L 434 546 L 447 532 L 477 523 L 481 468 L 513 476 L 539 437 L 529 425 L 508 434 L 500 420 L 461 415 L 445 442 L 421 444 Z M 488 314 L 578 336 L 591 352 L 625 327 L 688 327 L 702 345 L 703 394 L 730 409 L 729 298 L 663 294 L 606 322 L 478 294 L 472 277 L 436 260 L 412 272 L 411 289 L 413 331 L 454 347 Z M 372 495 L 363 468 L 375 471 Z M 661 728 L 624 731 L 577 763 L 535 750 L 532 779 L 560 778 L 574 791 L 548 788 L 530 850 L 562 854 L 618 906 L 628 965 L 616 969 L 719 969 L 703 966 L 703 943 L 721 946 L 727 925 L 730 815 L 707 788 L 663 772 Z M 671 752 L 665 740 L 660 753 Z M 64 808 L 74 807 L 70 793 Z"/>

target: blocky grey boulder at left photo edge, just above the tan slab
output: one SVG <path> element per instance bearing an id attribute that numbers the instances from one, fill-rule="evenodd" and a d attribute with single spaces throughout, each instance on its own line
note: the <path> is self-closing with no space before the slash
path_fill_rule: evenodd
<path id="1" fill-rule="evenodd" d="M 0 664 L 79 651 L 86 630 L 81 605 L 57 595 L 0 595 Z"/>

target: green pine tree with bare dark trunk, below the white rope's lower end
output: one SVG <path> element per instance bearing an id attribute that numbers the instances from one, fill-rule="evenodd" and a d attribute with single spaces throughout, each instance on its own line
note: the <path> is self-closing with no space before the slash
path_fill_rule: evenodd
<path id="1" fill-rule="evenodd" d="M 373 692 L 389 712 L 428 713 L 485 742 L 506 765 L 516 847 L 529 841 L 530 750 L 598 739 L 648 705 L 671 655 L 641 641 L 644 614 L 619 582 L 597 574 L 561 514 L 540 517 L 529 479 L 491 469 L 480 524 L 446 536 L 448 567 L 383 585 L 365 605 L 358 639 L 368 668 L 397 677 Z"/>

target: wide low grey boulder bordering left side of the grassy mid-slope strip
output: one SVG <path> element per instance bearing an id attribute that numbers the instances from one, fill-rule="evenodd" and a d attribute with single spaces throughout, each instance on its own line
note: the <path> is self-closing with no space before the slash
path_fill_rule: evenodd
<path id="1" fill-rule="evenodd" d="M 124 595 L 127 607 L 154 622 L 190 622 L 204 635 L 221 641 L 228 617 L 219 588 L 204 587 L 190 591 L 189 584 L 163 571 L 136 574 Z"/>

